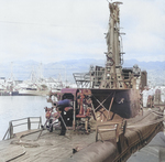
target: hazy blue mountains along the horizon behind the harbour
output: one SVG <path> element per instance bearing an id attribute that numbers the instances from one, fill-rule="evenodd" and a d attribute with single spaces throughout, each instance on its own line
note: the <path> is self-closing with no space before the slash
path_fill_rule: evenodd
<path id="1" fill-rule="evenodd" d="M 148 74 L 148 80 L 152 84 L 165 84 L 165 62 L 139 62 L 136 60 L 125 60 L 123 67 L 132 67 L 138 64 L 142 71 Z M 72 60 L 62 61 L 50 64 L 41 64 L 35 61 L 13 62 L 0 64 L 0 76 L 11 77 L 13 74 L 15 79 L 30 79 L 31 74 L 37 77 L 62 78 L 63 80 L 74 82 L 73 73 L 86 73 L 89 71 L 90 65 L 105 66 L 105 60 Z"/>

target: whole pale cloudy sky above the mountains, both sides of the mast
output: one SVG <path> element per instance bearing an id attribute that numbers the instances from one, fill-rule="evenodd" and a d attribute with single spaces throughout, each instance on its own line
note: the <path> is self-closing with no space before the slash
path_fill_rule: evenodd
<path id="1" fill-rule="evenodd" d="M 0 63 L 103 60 L 109 2 L 0 0 Z M 165 1 L 121 2 L 124 60 L 165 61 Z"/>

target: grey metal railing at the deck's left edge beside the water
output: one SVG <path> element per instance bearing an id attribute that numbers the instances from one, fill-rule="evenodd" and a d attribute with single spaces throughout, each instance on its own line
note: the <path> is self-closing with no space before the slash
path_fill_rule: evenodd
<path id="1" fill-rule="evenodd" d="M 38 121 L 32 121 L 32 119 L 38 119 Z M 18 122 L 18 121 L 21 121 L 21 120 L 26 120 L 26 122 L 24 121 L 24 122 L 14 125 L 14 122 Z M 9 121 L 9 128 L 8 128 L 8 130 L 7 130 L 7 132 L 6 132 L 6 134 L 4 134 L 2 140 L 4 140 L 7 136 L 8 136 L 7 139 L 13 138 L 13 136 L 14 136 L 13 128 L 14 127 L 26 125 L 28 126 L 28 130 L 31 130 L 32 123 L 38 123 L 37 129 L 40 129 L 41 125 L 42 125 L 42 118 L 41 117 L 28 117 L 28 118 L 22 118 L 22 119 L 16 119 L 16 120 Z"/>

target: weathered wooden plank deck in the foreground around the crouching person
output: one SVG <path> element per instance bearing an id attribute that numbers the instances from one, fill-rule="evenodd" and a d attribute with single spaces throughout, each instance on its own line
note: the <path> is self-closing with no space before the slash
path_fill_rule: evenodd
<path id="1" fill-rule="evenodd" d="M 143 123 L 144 118 L 145 115 L 128 119 L 128 132 Z M 147 114 L 146 118 L 150 118 Z M 59 136 L 59 130 L 44 130 L 40 138 L 38 134 L 38 130 L 33 133 L 26 131 L 15 134 L 13 139 L 0 141 L 0 162 L 64 162 L 73 156 L 73 149 L 81 152 L 79 150 L 86 151 L 86 148 L 96 143 L 96 131 L 85 134 L 70 130 L 66 136 Z M 109 138 L 113 139 L 114 133 Z"/>

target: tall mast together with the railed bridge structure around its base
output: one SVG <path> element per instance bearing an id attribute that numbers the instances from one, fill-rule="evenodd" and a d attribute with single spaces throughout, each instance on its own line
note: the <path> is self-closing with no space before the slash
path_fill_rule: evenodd
<path id="1" fill-rule="evenodd" d="M 122 2 L 109 2 L 109 29 L 106 34 L 107 52 L 106 66 L 90 68 L 90 88 L 100 89 L 142 89 L 145 85 L 141 80 L 141 69 L 138 65 L 122 68 L 123 46 L 122 34 L 120 32 L 120 9 Z M 146 76 L 145 76 L 146 77 Z M 78 83 L 78 82 L 77 82 Z M 86 80 L 87 83 L 87 80 Z"/>

